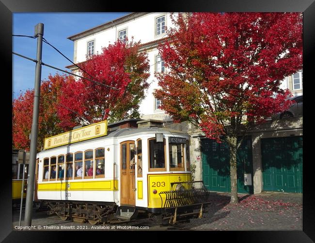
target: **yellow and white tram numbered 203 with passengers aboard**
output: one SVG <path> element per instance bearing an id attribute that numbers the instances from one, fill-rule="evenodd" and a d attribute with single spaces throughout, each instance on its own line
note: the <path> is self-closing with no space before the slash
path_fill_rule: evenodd
<path id="1" fill-rule="evenodd" d="M 189 135 L 155 120 L 84 126 L 45 139 L 37 158 L 34 198 L 63 220 L 96 224 L 170 208 L 175 222 L 177 208 L 190 215 L 189 205 L 207 201 L 190 182 Z"/>

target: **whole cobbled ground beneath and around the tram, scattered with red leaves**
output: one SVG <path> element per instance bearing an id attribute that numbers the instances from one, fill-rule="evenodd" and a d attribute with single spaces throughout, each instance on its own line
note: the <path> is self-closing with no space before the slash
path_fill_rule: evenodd
<path id="1" fill-rule="evenodd" d="M 230 205 L 228 193 L 213 192 L 203 218 L 163 226 L 157 223 L 156 218 L 140 218 L 113 227 L 92 227 L 88 223 L 62 221 L 57 215 L 47 216 L 46 212 L 34 211 L 34 228 L 31 230 L 39 230 L 38 226 L 40 230 L 302 230 L 302 194 L 263 192 L 239 194 L 238 198 L 238 205 Z M 13 213 L 13 230 L 16 230 L 18 221 L 17 210 Z M 139 229 L 135 229 L 136 226 Z M 143 226 L 148 227 L 143 229 Z"/>

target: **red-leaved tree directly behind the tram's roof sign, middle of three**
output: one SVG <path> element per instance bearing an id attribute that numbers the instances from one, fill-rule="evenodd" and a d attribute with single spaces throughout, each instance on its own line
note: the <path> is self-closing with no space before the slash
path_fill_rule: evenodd
<path id="1" fill-rule="evenodd" d="M 117 41 L 79 64 L 84 70 L 80 74 L 98 83 L 79 79 L 63 87 L 60 104 L 77 114 L 61 107 L 58 116 L 62 125 L 140 117 L 139 105 L 149 86 L 146 80 L 150 67 L 146 53 L 139 52 L 139 45 L 140 42 Z"/>

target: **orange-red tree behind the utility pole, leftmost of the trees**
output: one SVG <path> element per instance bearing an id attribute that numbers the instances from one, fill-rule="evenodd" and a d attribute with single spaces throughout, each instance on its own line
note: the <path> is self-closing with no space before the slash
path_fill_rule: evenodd
<path id="1" fill-rule="evenodd" d="M 49 75 L 42 81 L 40 91 L 40 106 L 38 118 L 37 151 L 43 148 L 47 137 L 62 133 L 71 126 L 62 127 L 57 116 L 60 108 L 58 99 L 62 86 L 74 79 L 70 76 L 55 74 Z M 30 148 L 31 123 L 33 116 L 34 89 L 27 90 L 13 101 L 12 112 L 12 141 L 13 147 L 19 149 Z"/>

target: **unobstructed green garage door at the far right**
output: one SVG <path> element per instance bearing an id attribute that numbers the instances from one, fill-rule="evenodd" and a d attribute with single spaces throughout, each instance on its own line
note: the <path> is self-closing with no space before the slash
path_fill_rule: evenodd
<path id="1" fill-rule="evenodd" d="M 261 139 L 263 190 L 303 191 L 303 137 Z"/>

